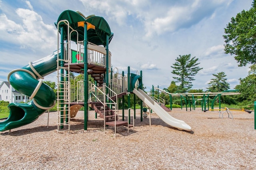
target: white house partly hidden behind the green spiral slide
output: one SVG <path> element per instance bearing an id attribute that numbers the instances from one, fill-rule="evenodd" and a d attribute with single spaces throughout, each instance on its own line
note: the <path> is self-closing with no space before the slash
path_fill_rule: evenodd
<path id="1" fill-rule="evenodd" d="M 15 90 L 9 82 L 3 81 L 0 85 L 0 101 L 1 100 L 9 103 L 28 102 L 29 96 L 21 94 Z"/>

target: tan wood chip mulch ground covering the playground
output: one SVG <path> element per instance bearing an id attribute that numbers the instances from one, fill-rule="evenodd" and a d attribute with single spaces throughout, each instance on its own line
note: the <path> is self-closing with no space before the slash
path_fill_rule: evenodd
<path id="1" fill-rule="evenodd" d="M 189 110 L 189 109 L 188 109 Z M 88 130 L 84 113 L 71 119 L 70 133 L 57 132 L 57 113 L 42 114 L 35 122 L 0 132 L 0 169 L 4 170 L 253 170 L 256 169 L 254 112 L 232 111 L 234 119 L 217 111 L 186 108 L 168 112 L 184 120 L 191 132 L 177 130 L 156 114 L 135 128 L 107 126 L 90 111 Z M 119 111 L 121 118 L 122 110 Z M 125 110 L 127 118 L 127 110 Z M 133 115 L 133 113 L 131 114 Z M 2 121 L 2 120 L 1 120 Z"/>

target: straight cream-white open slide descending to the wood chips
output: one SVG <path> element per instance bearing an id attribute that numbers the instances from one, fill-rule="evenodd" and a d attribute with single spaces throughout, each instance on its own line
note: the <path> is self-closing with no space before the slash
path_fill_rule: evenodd
<path id="1" fill-rule="evenodd" d="M 182 120 L 178 120 L 172 117 L 168 112 L 166 112 L 157 102 L 155 102 L 148 94 L 143 90 L 135 88 L 132 90 L 136 96 L 138 96 L 148 107 L 150 107 L 154 112 L 168 125 L 177 128 L 178 130 L 191 131 L 191 127 Z"/>

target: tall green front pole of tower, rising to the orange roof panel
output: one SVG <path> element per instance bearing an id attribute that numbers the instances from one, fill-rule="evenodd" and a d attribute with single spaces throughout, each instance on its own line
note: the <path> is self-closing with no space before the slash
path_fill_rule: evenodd
<path id="1" fill-rule="evenodd" d="M 84 130 L 87 130 L 88 121 L 88 58 L 87 58 L 87 23 L 84 22 Z"/>

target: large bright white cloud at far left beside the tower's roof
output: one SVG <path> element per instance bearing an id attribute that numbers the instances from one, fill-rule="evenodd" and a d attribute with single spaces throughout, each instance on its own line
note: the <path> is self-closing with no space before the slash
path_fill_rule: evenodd
<path id="1" fill-rule="evenodd" d="M 32 10 L 18 8 L 16 14 L 22 20 L 21 24 L 9 20 L 5 14 L 0 14 L 2 42 L 39 51 L 57 46 L 57 31 L 53 25 L 44 24 L 42 17 Z"/>

